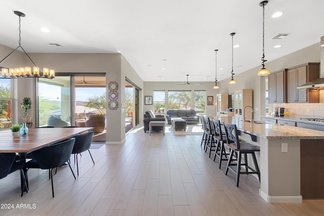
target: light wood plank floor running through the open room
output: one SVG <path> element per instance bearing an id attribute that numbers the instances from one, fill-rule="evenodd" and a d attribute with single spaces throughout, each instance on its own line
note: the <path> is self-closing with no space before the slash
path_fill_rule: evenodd
<path id="1" fill-rule="evenodd" d="M 10 174 L 0 180 L 0 215 L 324 215 L 324 200 L 266 203 L 251 175 L 237 188 L 226 163 L 219 169 L 201 149 L 201 136 L 166 131 L 149 136 L 138 126 L 123 145 L 91 149 L 95 165 L 84 152 L 76 180 L 67 166 L 54 175 L 55 198 L 47 170 L 28 171 L 23 197 L 19 172 Z M 76 173 L 73 157 L 71 165 Z"/>

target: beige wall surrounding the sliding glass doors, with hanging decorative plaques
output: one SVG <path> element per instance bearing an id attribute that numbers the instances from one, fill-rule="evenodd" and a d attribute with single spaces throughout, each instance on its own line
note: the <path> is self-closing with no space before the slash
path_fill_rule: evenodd
<path id="1" fill-rule="evenodd" d="M 13 49 L 0 45 L 0 58 L 4 58 Z M 143 81 L 137 75 L 135 70 L 129 65 L 127 60 L 121 56 L 121 54 L 66 54 L 66 53 L 33 53 L 28 54 L 34 63 L 39 67 L 45 66 L 55 69 L 55 73 L 106 73 L 106 83 L 116 81 L 118 83 L 118 109 L 110 110 L 107 107 L 106 119 L 107 119 L 107 136 L 106 140 L 109 144 L 119 144 L 125 139 L 125 113 L 121 113 L 121 103 L 125 102 L 125 76 L 131 77 L 131 79 L 139 87 L 143 88 Z M 8 59 L 9 60 L 9 59 Z M 15 56 L 10 57 L 10 61 L 3 63 L 3 67 L 14 67 L 15 65 L 31 65 L 28 58 L 21 52 L 17 52 Z M 23 97 L 31 97 L 35 101 L 35 85 L 33 84 L 34 78 L 30 79 L 15 79 L 14 85 L 17 87 L 14 92 L 13 101 L 13 115 L 17 118 L 16 122 L 20 122 L 22 113 L 17 109 L 19 101 Z M 107 88 L 106 95 L 109 94 L 109 88 Z M 107 97 L 107 102 L 109 101 Z M 14 109 L 14 107 L 16 109 Z M 20 108 L 20 107 L 19 107 Z M 35 109 L 31 110 L 33 116 L 35 115 Z"/>

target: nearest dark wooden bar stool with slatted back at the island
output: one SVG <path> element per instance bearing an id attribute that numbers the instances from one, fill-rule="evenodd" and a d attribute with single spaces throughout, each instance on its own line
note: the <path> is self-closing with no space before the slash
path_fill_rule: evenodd
<path id="1" fill-rule="evenodd" d="M 227 139 L 226 145 L 230 149 L 229 160 L 227 162 L 225 175 L 227 175 L 229 168 L 236 172 L 236 187 L 238 187 L 240 174 L 257 174 L 260 182 L 260 170 L 257 158 L 255 156 L 255 152 L 260 151 L 260 147 L 252 145 L 250 143 L 240 142 L 238 139 L 236 124 L 228 124 L 225 122 L 223 122 L 223 124 L 225 127 L 225 134 Z M 237 154 L 236 159 L 233 158 L 234 152 Z M 255 169 L 248 165 L 247 154 L 251 154 Z M 244 163 L 242 163 L 241 161 L 242 155 L 244 155 Z M 233 161 L 236 161 L 236 163 L 232 163 Z M 235 166 L 235 168 L 232 166 Z M 245 166 L 245 171 L 241 171 L 241 166 Z M 251 171 L 249 171 L 249 169 Z"/>

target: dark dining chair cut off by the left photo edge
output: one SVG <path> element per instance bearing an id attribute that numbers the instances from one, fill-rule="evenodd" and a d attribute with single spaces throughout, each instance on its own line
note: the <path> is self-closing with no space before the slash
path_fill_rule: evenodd
<path id="1" fill-rule="evenodd" d="M 20 170 L 21 181 L 25 184 L 25 176 L 22 170 L 24 164 L 23 162 L 16 161 L 16 159 L 16 153 L 0 153 L 0 179 L 7 177 L 16 170 Z M 21 185 L 21 196 L 23 195 L 24 188 Z M 28 192 L 28 189 L 26 192 Z"/>

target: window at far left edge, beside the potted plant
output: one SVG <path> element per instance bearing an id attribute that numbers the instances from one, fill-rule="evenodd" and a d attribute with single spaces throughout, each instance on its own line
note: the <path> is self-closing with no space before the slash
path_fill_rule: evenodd
<path id="1" fill-rule="evenodd" d="M 11 79 L 0 79 L 0 129 L 11 126 Z"/>

